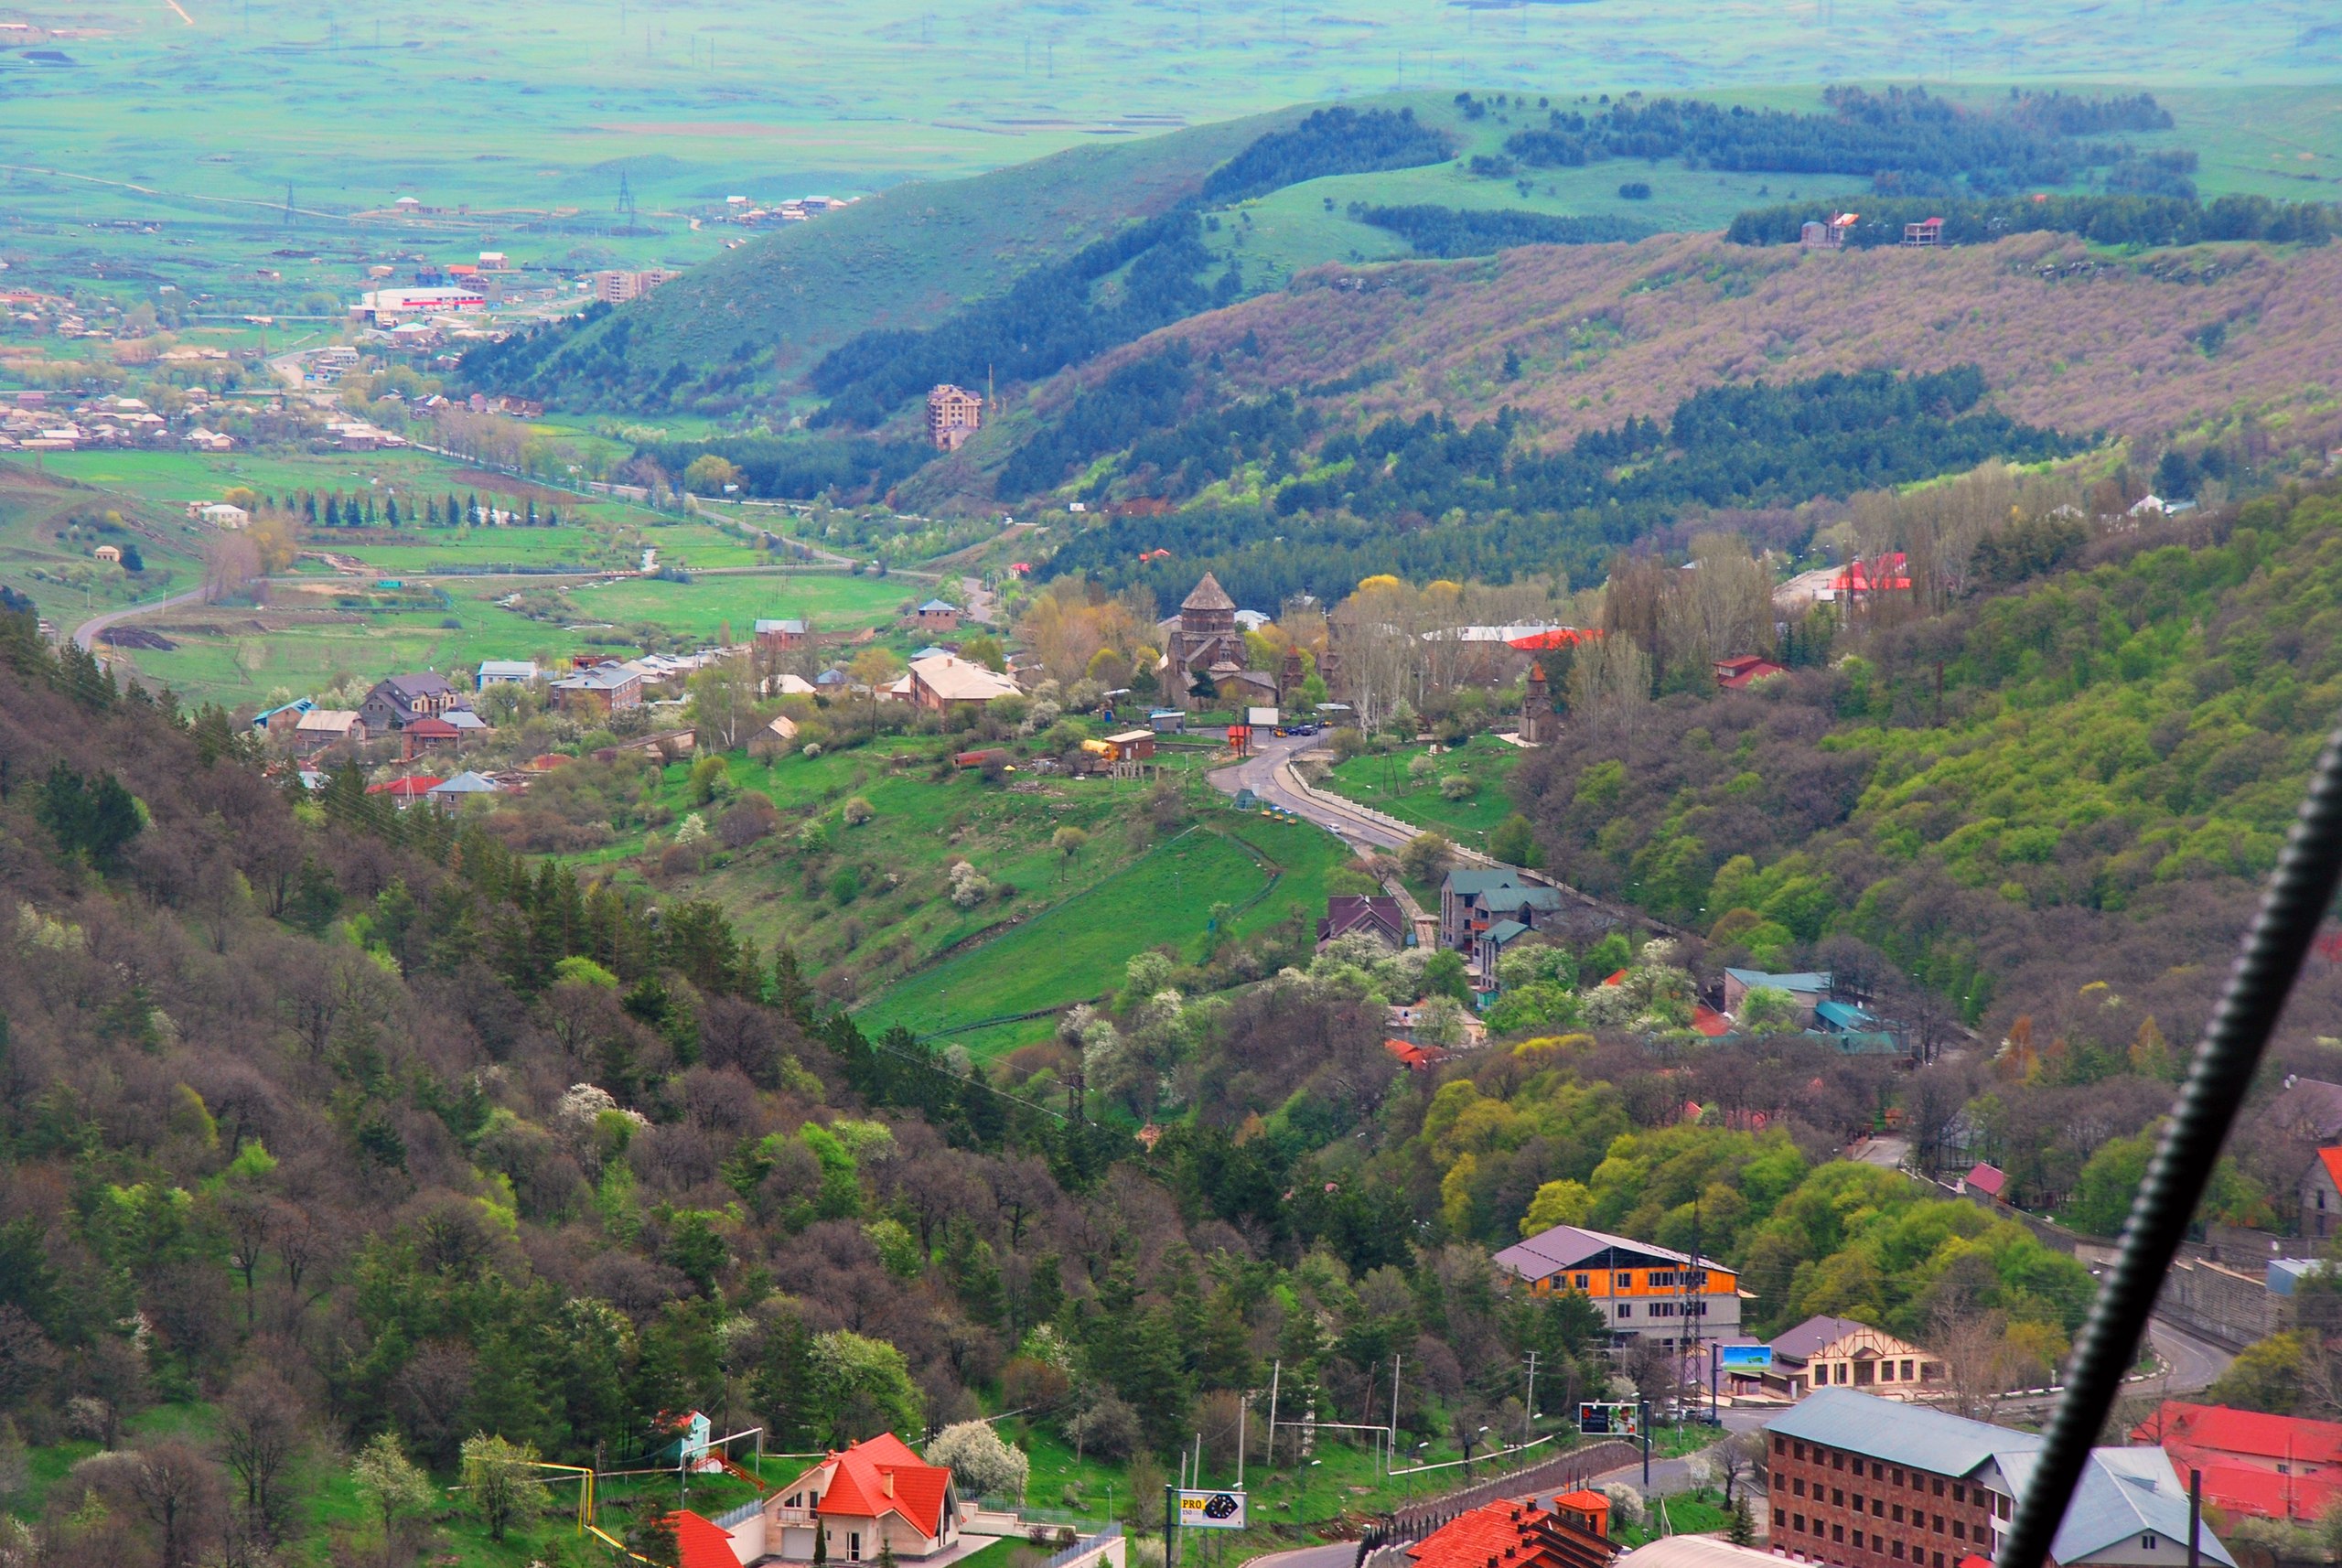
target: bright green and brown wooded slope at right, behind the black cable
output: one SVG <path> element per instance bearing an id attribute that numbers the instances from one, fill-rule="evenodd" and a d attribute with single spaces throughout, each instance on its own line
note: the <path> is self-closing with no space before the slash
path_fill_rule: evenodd
<path id="1" fill-rule="evenodd" d="M 2073 1055 L 2120 1058 L 2141 1016 L 2185 1041 L 2342 711 L 2337 524 L 2328 487 L 2075 529 L 2031 569 L 2070 571 L 1761 690 L 1590 711 L 1515 782 L 1553 871 L 1724 953 L 1845 934 L 1988 1039 L 2026 1013 Z M 2288 1034 L 2335 1032 L 2316 960 Z"/>

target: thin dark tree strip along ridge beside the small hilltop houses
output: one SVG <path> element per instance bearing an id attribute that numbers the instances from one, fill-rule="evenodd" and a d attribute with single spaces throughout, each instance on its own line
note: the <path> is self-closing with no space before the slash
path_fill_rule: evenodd
<path id="1" fill-rule="evenodd" d="M 1803 225 L 1855 211 L 1845 229 L 1855 248 L 1899 246 L 1904 225 L 1942 218 L 1939 243 L 1986 246 L 2007 234 L 2080 234 L 2103 246 L 2194 246 L 2209 239 L 2272 239 L 2321 246 L 2335 232 L 2335 211 L 2316 201 L 2269 201 L 2267 197 L 2220 197 L 2197 204 L 2185 197 L 1862 197 L 1838 201 L 1785 201 L 1733 218 L 1724 232 L 1735 246 L 1794 246 Z"/>

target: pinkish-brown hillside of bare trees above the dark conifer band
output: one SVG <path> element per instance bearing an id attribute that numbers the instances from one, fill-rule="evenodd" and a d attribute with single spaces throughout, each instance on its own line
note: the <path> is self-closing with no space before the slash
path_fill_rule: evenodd
<path id="1" fill-rule="evenodd" d="M 2197 246 L 2136 257 L 2026 234 L 1993 246 L 1810 255 L 1707 236 L 1333 269 L 1141 339 L 1042 388 L 1042 410 L 1183 342 L 1223 398 L 1316 388 L 1342 419 L 1499 407 L 1546 445 L 1696 391 L 1824 370 L 1977 365 L 2012 419 L 2157 438 L 2288 419 L 2342 442 L 2321 370 L 2342 356 L 2342 248 Z M 2206 353 L 2206 328 L 2218 325 Z M 1506 374 L 1506 356 L 1518 370 Z"/>

